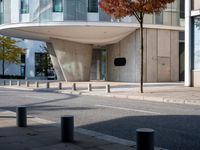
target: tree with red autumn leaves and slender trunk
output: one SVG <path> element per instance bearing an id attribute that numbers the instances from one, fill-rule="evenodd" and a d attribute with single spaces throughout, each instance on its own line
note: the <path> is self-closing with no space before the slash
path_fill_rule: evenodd
<path id="1" fill-rule="evenodd" d="M 145 14 L 159 14 L 167 4 L 175 0 L 101 0 L 99 5 L 103 11 L 114 18 L 135 16 L 140 24 L 141 37 L 141 70 L 140 70 L 140 92 L 143 93 L 143 23 Z"/>

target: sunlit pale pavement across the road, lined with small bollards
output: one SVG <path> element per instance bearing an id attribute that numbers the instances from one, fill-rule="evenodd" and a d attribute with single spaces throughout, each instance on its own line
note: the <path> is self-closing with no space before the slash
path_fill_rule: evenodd
<path id="1" fill-rule="evenodd" d="M 36 90 L 36 91 L 51 91 L 75 95 L 91 95 L 105 96 L 116 98 L 128 98 L 136 100 L 157 101 L 166 103 L 191 104 L 200 105 L 200 88 L 184 87 L 183 83 L 145 83 L 144 93 L 139 92 L 138 83 L 122 83 L 122 82 L 77 82 L 76 91 L 72 91 L 73 83 L 62 82 L 62 90 L 58 89 L 58 81 L 50 82 L 50 88 L 46 88 L 46 81 L 40 81 L 39 88 L 35 87 L 35 81 L 30 81 L 30 86 L 25 86 L 25 81 L 22 81 L 21 86 L 7 85 L 7 88 L 15 88 L 21 90 Z M 0 81 L 2 85 L 2 80 Z M 88 91 L 88 84 L 92 84 L 92 91 Z M 106 93 L 106 85 L 110 84 L 111 93 Z"/>

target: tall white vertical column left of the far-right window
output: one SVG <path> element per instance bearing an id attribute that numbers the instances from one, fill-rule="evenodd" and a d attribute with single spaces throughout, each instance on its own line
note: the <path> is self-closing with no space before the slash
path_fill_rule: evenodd
<path id="1" fill-rule="evenodd" d="M 185 0 L 185 86 L 192 85 L 191 0 Z"/>

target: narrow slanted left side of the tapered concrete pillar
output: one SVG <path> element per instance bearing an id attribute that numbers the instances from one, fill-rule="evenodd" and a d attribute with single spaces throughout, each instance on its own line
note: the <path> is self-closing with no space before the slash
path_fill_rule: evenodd
<path id="1" fill-rule="evenodd" d="M 56 72 L 56 75 L 57 75 L 57 80 L 60 80 L 60 81 L 64 81 L 64 76 L 63 76 L 63 72 L 61 70 L 61 67 L 58 63 L 58 58 L 56 56 L 56 53 L 54 51 L 54 48 L 53 48 L 53 45 L 52 43 L 46 43 L 47 47 L 48 47 L 48 52 L 50 54 L 50 57 L 51 57 L 51 62 L 53 64 L 53 68 Z"/>

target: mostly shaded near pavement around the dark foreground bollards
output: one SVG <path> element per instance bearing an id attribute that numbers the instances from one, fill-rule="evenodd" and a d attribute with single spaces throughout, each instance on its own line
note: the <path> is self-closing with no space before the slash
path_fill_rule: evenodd
<path id="1" fill-rule="evenodd" d="M 134 150 L 125 142 L 84 129 L 76 129 L 73 143 L 61 143 L 60 127 L 51 121 L 28 118 L 28 127 L 16 127 L 15 113 L 0 110 L 1 150 Z M 85 134 L 84 134 L 85 133 Z M 90 135 L 89 135 L 90 134 Z M 103 139 L 105 138 L 105 140 Z M 120 142 L 124 144 L 119 144 Z"/>

